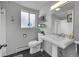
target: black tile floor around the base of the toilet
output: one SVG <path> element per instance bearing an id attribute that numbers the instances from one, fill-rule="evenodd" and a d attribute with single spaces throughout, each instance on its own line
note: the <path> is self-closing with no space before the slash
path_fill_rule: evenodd
<path id="1" fill-rule="evenodd" d="M 22 55 L 22 57 L 51 57 L 45 51 L 37 52 L 35 54 L 30 54 L 29 51 L 30 51 L 30 49 L 24 50 L 24 51 L 21 51 L 21 52 L 12 54 L 12 55 L 8 55 L 8 56 L 5 56 L 5 57 L 16 57 L 18 55 Z"/>

